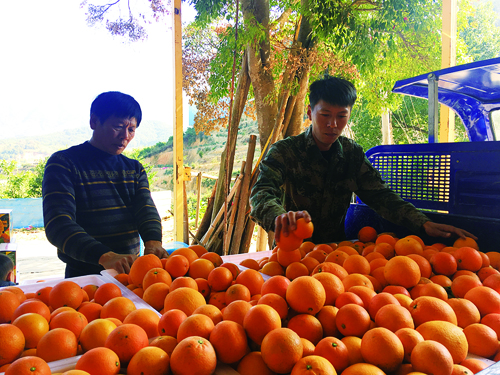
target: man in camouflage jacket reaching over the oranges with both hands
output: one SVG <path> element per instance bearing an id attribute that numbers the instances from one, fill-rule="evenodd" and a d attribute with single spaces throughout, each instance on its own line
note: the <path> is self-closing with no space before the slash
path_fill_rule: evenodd
<path id="1" fill-rule="evenodd" d="M 251 217 L 267 231 L 288 235 L 303 217 L 314 223 L 314 243 L 345 239 L 344 221 L 352 193 L 385 219 L 415 233 L 473 237 L 450 225 L 433 223 L 389 189 L 360 145 L 341 136 L 349 122 L 356 89 L 349 81 L 326 77 L 310 87 L 303 133 L 271 146 L 260 164 L 250 197 Z"/>

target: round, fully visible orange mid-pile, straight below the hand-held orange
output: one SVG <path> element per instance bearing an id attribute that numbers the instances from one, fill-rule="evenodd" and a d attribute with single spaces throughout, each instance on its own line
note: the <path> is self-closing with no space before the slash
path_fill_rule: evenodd
<path id="1" fill-rule="evenodd" d="M 325 288 L 314 277 L 301 276 L 293 280 L 288 286 L 286 301 L 298 313 L 315 315 L 325 304 Z"/>

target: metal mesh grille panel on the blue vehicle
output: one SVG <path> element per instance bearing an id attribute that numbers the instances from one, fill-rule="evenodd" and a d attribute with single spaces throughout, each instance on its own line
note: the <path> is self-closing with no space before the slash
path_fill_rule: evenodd
<path id="1" fill-rule="evenodd" d="M 433 202 L 450 200 L 451 155 L 378 154 L 370 159 L 384 181 L 401 198 Z"/>

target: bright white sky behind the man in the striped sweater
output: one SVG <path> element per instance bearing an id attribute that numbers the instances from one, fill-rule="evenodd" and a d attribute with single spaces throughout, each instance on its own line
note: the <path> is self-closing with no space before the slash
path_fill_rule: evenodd
<path id="1" fill-rule="evenodd" d="M 0 1 L 3 139 L 88 126 L 90 104 L 104 91 L 132 95 L 143 121 L 173 123 L 172 16 L 151 25 L 146 41 L 127 43 L 87 26 L 80 3 Z M 181 10 L 183 23 L 194 18 L 186 4 Z"/>

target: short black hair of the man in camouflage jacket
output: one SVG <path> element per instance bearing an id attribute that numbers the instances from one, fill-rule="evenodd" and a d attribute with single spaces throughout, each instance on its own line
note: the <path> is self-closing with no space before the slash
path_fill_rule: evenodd
<path id="1" fill-rule="evenodd" d="M 356 102 L 357 94 L 354 85 L 341 77 L 325 76 L 309 86 L 309 104 L 314 109 L 320 100 L 331 105 L 351 107 Z"/>

